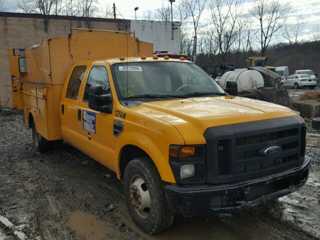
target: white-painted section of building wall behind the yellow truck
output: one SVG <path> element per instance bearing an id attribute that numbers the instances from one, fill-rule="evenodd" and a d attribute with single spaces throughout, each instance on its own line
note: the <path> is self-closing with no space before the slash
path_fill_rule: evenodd
<path id="1" fill-rule="evenodd" d="M 170 21 L 131 20 L 130 31 L 141 41 L 153 43 L 153 51 L 180 52 L 180 22 L 173 22 L 173 39 L 171 39 Z"/>

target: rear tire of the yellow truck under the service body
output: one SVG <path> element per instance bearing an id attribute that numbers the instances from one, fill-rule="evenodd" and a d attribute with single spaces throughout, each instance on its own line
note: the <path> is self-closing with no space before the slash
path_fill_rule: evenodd
<path id="1" fill-rule="evenodd" d="M 42 153 L 61 148 L 63 145 L 63 139 L 49 141 L 37 133 L 34 121 L 32 123 L 32 140 L 35 150 Z"/>

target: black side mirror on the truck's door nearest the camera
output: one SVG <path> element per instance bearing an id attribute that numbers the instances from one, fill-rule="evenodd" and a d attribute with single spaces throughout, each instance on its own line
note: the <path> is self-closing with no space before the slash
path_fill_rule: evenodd
<path id="1" fill-rule="evenodd" d="M 103 94 L 101 85 L 91 85 L 89 88 L 89 108 L 112 113 L 112 95 Z"/>

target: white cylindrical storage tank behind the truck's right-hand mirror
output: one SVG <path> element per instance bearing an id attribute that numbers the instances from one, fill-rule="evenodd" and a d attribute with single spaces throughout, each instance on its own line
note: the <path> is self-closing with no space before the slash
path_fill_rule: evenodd
<path id="1" fill-rule="evenodd" d="M 247 68 L 234 69 L 234 71 L 225 72 L 220 79 L 220 84 L 225 85 L 227 81 L 235 81 L 238 83 L 238 90 L 251 90 L 263 87 L 263 77 L 256 70 L 248 70 Z"/>

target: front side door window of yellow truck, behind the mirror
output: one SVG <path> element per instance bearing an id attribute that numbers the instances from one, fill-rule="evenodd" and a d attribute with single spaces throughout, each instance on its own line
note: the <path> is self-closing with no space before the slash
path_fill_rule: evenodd
<path id="1" fill-rule="evenodd" d="M 89 88 L 91 85 L 101 85 L 102 94 L 106 94 L 110 89 L 108 75 L 104 66 L 92 66 L 85 84 L 83 101 L 89 100 Z"/>

